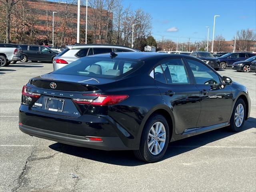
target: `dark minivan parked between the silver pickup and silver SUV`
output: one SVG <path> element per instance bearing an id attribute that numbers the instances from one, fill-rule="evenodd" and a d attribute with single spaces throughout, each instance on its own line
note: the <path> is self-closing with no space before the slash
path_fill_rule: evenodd
<path id="1" fill-rule="evenodd" d="M 21 62 L 53 62 L 53 58 L 57 55 L 56 52 L 53 52 L 47 46 L 39 45 L 20 45 L 23 50 L 24 58 Z"/>

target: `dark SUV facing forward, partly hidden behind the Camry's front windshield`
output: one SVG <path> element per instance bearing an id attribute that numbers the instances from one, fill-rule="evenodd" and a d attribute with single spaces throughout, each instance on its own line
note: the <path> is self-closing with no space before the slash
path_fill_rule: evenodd
<path id="1" fill-rule="evenodd" d="M 208 64 L 209 66 L 211 66 L 212 68 L 214 68 L 216 71 L 219 70 L 219 60 L 218 58 L 215 58 L 211 53 L 209 52 L 204 52 L 204 51 L 194 51 L 190 54 L 190 56 L 194 56 L 200 60 L 202 60 L 203 62 L 205 62 L 206 64 Z"/>

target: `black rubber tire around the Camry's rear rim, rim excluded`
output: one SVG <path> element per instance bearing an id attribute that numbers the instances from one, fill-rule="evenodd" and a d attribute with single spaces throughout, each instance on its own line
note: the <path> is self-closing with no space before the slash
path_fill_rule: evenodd
<path id="1" fill-rule="evenodd" d="M 166 130 L 166 140 L 165 140 L 164 146 L 162 148 L 162 151 L 159 154 L 154 155 L 150 152 L 150 150 L 148 148 L 148 134 L 150 132 L 150 128 L 156 122 L 161 122 L 164 125 L 164 128 Z M 142 131 L 142 135 L 141 135 L 141 138 L 140 138 L 140 148 L 139 148 L 139 150 L 134 150 L 134 155 L 139 160 L 142 160 L 142 161 L 145 161 L 145 162 L 149 162 L 149 163 L 156 162 L 164 156 L 164 154 L 166 152 L 166 149 L 168 147 L 168 143 L 169 143 L 168 122 L 166 121 L 166 119 L 162 115 L 154 114 L 153 116 L 151 116 L 148 119 L 148 121 L 146 122 L 146 124 L 144 126 L 144 129 Z"/>

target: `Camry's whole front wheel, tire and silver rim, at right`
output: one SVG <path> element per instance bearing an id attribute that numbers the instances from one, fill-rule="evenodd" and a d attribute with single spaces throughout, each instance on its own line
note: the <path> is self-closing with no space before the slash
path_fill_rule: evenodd
<path id="1" fill-rule="evenodd" d="M 230 119 L 230 130 L 233 132 L 238 132 L 242 129 L 244 125 L 244 120 L 246 116 L 246 105 L 244 100 L 239 98 L 236 101 L 234 110 Z"/>

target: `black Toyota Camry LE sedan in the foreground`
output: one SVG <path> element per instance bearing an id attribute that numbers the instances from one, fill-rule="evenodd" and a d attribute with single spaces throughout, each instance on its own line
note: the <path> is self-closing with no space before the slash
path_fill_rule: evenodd
<path id="1" fill-rule="evenodd" d="M 19 128 L 31 136 L 102 150 L 134 150 L 155 162 L 169 142 L 229 126 L 250 115 L 245 86 L 182 54 L 88 56 L 29 80 Z"/>

